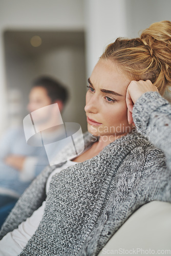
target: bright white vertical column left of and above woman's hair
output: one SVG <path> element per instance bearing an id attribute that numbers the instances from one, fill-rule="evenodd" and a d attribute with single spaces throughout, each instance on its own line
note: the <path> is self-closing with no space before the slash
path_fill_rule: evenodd
<path id="1" fill-rule="evenodd" d="M 126 36 L 127 0 L 86 0 L 87 75 L 90 76 L 105 47 L 118 36 Z"/>

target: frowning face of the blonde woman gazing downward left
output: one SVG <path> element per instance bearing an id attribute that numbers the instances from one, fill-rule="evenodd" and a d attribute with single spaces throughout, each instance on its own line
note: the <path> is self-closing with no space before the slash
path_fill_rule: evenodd
<path id="1" fill-rule="evenodd" d="M 99 60 L 88 81 L 88 131 L 95 136 L 108 136 L 111 142 L 130 133 L 133 127 L 127 121 L 125 97 L 131 80 L 111 60 Z"/>

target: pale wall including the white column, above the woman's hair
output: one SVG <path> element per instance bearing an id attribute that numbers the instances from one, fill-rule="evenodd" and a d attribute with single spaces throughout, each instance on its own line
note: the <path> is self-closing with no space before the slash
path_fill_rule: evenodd
<path id="1" fill-rule="evenodd" d="M 106 45 L 117 37 L 137 37 L 160 20 L 171 20 L 170 0 L 85 0 L 87 75 Z"/>

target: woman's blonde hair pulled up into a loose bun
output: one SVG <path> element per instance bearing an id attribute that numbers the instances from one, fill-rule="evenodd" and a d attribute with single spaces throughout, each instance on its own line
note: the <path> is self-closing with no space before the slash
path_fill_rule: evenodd
<path id="1" fill-rule="evenodd" d="M 131 80 L 151 80 L 163 95 L 171 85 L 171 22 L 153 23 L 138 38 L 117 38 L 100 59 L 115 61 Z"/>

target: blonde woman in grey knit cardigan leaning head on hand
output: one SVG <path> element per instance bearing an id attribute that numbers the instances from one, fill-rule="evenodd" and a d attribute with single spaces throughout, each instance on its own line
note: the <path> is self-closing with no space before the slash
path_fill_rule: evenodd
<path id="1" fill-rule="evenodd" d="M 89 78 L 84 152 L 34 180 L 3 225 L 2 254 L 97 255 L 141 205 L 171 202 L 171 107 L 159 95 L 171 82 L 170 48 L 167 21 L 106 48 Z"/>

